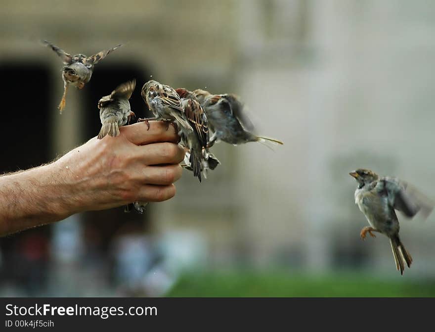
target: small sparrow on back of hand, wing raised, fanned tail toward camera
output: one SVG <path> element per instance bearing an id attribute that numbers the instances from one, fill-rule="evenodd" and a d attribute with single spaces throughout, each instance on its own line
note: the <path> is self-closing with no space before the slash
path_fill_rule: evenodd
<path id="1" fill-rule="evenodd" d="M 129 99 L 136 86 L 136 80 L 121 84 L 110 95 L 102 97 L 98 101 L 100 109 L 101 130 L 98 139 L 106 135 L 116 137 L 119 135 L 119 127 L 126 123 L 130 124 L 131 117 L 135 117 L 130 109 Z"/>

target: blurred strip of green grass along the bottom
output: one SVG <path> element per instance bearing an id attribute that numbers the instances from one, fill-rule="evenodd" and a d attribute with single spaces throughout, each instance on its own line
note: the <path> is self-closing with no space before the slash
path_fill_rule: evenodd
<path id="1" fill-rule="evenodd" d="M 312 277 L 290 272 L 186 274 L 172 297 L 434 297 L 435 281 L 386 280 L 367 275 Z"/>

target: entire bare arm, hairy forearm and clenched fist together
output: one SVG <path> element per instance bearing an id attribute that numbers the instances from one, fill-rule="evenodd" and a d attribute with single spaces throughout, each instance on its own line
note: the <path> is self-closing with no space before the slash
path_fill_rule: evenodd
<path id="1" fill-rule="evenodd" d="M 40 167 L 0 177 L 0 236 L 89 210 L 174 197 L 184 150 L 163 122 L 92 138 Z"/>

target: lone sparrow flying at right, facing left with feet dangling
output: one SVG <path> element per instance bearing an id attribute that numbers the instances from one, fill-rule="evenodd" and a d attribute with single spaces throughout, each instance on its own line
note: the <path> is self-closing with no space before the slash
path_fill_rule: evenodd
<path id="1" fill-rule="evenodd" d="M 372 232 L 389 237 L 396 269 L 403 275 L 405 264 L 409 268 L 412 257 L 400 241 L 400 227 L 395 210 L 401 211 L 408 218 L 414 217 L 419 211 L 427 217 L 432 212 L 433 203 L 397 178 L 380 178 L 373 171 L 366 169 L 358 169 L 349 174 L 358 183 L 355 204 L 370 224 L 370 227 L 361 230 L 361 238 L 364 239 L 367 233 L 375 237 Z"/>

